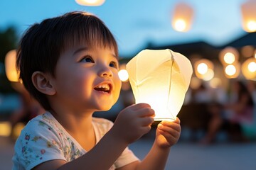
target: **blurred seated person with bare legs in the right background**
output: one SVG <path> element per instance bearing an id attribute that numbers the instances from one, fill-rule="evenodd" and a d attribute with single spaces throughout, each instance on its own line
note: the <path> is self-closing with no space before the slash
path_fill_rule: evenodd
<path id="1" fill-rule="evenodd" d="M 245 141 L 241 125 L 250 123 L 253 116 L 253 101 L 247 86 L 242 81 L 231 81 L 230 101 L 209 109 L 211 118 L 202 144 L 214 142 L 220 130 L 227 130 L 233 141 Z"/>

